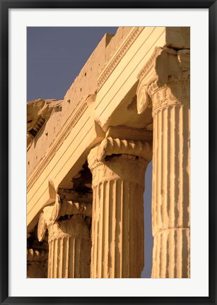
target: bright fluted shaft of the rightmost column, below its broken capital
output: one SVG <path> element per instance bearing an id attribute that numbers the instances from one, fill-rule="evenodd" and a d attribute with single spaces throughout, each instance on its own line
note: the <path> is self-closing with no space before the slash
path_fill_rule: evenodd
<path id="1" fill-rule="evenodd" d="M 189 76 L 153 93 L 152 277 L 189 277 Z"/>

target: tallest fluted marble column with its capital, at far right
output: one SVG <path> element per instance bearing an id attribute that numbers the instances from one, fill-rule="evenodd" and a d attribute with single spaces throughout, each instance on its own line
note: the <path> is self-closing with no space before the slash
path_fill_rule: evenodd
<path id="1" fill-rule="evenodd" d="M 157 48 L 139 79 L 138 112 L 153 107 L 152 277 L 189 277 L 189 50 Z"/>

